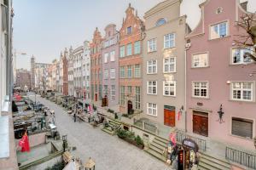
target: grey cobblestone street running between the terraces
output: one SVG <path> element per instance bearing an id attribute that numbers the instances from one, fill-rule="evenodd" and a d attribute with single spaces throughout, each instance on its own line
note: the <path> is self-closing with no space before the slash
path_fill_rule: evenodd
<path id="1" fill-rule="evenodd" d="M 34 97 L 30 96 L 34 99 Z M 97 170 L 167 170 L 171 169 L 162 161 L 148 155 L 143 150 L 126 143 L 117 136 L 111 136 L 86 122 L 73 122 L 59 105 L 37 96 L 37 101 L 55 111 L 57 129 L 67 134 L 69 144 L 76 146 L 73 151 L 83 163 L 90 156 L 96 161 Z"/>

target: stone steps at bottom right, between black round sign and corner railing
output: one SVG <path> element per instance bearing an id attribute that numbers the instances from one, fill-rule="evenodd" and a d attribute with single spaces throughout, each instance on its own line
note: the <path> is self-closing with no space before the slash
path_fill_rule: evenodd
<path id="1" fill-rule="evenodd" d="M 200 153 L 199 169 L 201 170 L 230 170 L 230 162 L 225 159 L 216 158 L 206 153 Z"/>

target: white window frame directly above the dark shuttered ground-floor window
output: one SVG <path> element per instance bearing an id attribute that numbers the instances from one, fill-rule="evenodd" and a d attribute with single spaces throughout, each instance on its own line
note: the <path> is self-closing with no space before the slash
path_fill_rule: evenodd
<path id="1" fill-rule="evenodd" d="M 234 88 L 235 83 L 241 83 L 241 88 Z M 244 88 L 244 83 L 252 83 L 251 88 Z M 234 91 L 240 90 L 241 99 L 234 98 Z M 244 91 L 251 92 L 251 99 L 243 99 L 244 98 Z M 230 83 L 230 99 L 234 101 L 245 101 L 245 102 L 253 102 L 255 98 L 255 82 L 251 81 L 233 81 Z"/>

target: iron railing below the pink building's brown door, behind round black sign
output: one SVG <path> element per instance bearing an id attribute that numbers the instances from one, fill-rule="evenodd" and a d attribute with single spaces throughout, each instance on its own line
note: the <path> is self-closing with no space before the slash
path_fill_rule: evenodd
<path id="1" fill-rule="evenodd" d="M 207 151 L 207 141 L 205 139 L 198 139 L 182 132 L 177 132 L 176 139 L 178 143 L 182 143 L 183 139 L 192 139 L 198 145 L 199 150 Z"/>

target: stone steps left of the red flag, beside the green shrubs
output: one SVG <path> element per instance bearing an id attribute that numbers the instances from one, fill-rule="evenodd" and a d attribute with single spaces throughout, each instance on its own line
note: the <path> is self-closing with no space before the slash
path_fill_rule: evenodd
<path id="1" fill-rule="evenodd" d="M 160 137 L 155 137 L 153 141 L 149 144 L 149 147 L 144 149 L 148 154 L 156 157 L 160 161 L 166 162 L 166 156 L 164 150 L 167 150 L 168 140 L 162 139 Z"/>

